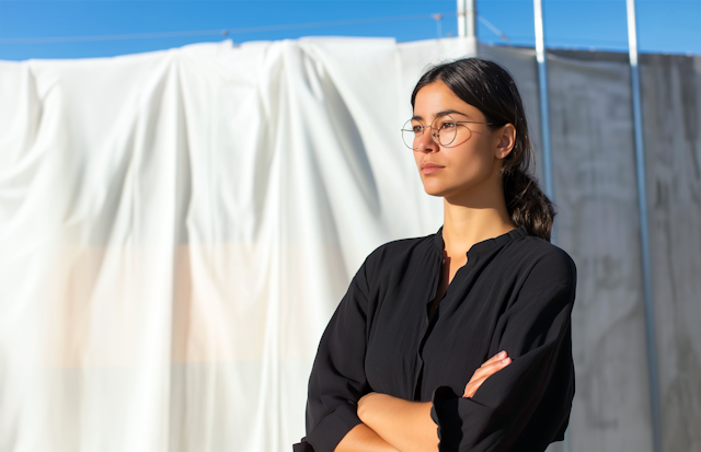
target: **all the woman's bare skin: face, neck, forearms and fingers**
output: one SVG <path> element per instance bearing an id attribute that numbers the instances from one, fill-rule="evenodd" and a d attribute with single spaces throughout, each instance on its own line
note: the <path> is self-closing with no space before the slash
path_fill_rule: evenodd
<path id="1" fill-rule="evenodd" d="M 427 84 L 416 94 L 414 117 L 424 125 L 432 124 L 445 111 L 452 111 L 450 115 L 456 120 L 486 123 L 482 112 L 458 97 L 443 81 Z M 458 127 L 471 130 L 469 140 L 441 147 L 426 130 L 414 150 L 424 189 L 444 198 L 445 263 L 430 315 L 458 269 L 467 264 L 470 247 L 515 229 L 506 209 L 501 175 L 503 160 L 514 148 L 515 127 L 512 124 L 496 129 L 486 124 Z M 487 378 L 510 362 L 506 351 L 484 362 L 467 383 L 463 397 L 472 397 Z M 358 402 L 363 424 L 348 431 L 335 451 L 437 451 L 437 426 L 430 418 L 430 402 L 369 393 Z"/>

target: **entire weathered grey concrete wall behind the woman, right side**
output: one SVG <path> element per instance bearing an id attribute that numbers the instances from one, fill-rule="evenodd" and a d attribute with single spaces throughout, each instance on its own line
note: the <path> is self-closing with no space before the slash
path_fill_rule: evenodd
<path id="1" fill-rule="evenodd" d="M 540 143 L 533 50 L 480 51 L 517 79 Z M 578 268 L 568 450 L 652 451 L 628 55 L 552 51 L 548 74 L 558 245 Z M 663 445 L 699 451 L 701 57 L 644 55 L 641 82 Z"/>

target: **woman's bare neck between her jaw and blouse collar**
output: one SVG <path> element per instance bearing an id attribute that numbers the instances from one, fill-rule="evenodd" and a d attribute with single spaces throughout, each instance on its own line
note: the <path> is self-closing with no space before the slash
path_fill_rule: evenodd
<path id="1" fill-rule="evenodd" d="M 475 243 L 514 229 L 501 184 L 482 194 L 444 198 L 443 240 L 448 256 L 464 256 Z"/>

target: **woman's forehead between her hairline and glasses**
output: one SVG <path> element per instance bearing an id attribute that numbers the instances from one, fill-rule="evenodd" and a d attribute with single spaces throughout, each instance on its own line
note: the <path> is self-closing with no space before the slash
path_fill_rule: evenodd
<path id="1" fill-rule="evenodd" d="M 414 100 L 415 119 L 432 120 L 446 112 L 473 120 L 484 119 L 482 112 L 458 97 L 458 95 L 440 80 L 418 90 Z"/>

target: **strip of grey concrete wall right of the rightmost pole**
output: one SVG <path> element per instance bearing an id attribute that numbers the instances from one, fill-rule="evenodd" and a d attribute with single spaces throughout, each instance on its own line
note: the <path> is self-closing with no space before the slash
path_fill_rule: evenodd
<path id="1" fill-rule="evenodd" d="M 641 86 L 663 448 L 701 451 L 701 57 L 644 55 Z"/>

